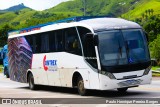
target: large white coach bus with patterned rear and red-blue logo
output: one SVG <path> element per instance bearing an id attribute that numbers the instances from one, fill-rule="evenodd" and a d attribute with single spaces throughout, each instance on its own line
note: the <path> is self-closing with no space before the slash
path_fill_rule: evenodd
<path id="1" fill-rule="evenodd" d="M 121 18 L 73 17 L 9 32 L 10 79 L 88 90 L 150 84 L 151 60 L 145 31 Z"/>

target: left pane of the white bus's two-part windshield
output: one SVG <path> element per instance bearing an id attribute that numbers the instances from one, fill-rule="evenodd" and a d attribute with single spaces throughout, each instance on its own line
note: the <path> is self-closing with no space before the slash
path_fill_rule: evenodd
<path id="1" fill-rule="evenodd" d="M 119 30 L 99 33 L 99 51 L 103 65 L 127 64 L 125 44 Z"/>

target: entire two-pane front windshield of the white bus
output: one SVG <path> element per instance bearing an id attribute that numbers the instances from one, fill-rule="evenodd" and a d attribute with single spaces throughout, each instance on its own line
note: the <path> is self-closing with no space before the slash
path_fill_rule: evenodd
<path id="1" fill-rule="evenodd" d="M 146 38 L 141 29 L 99 32 L 98 38 L 99 54 L 103 66 L 149 61 Z"/>

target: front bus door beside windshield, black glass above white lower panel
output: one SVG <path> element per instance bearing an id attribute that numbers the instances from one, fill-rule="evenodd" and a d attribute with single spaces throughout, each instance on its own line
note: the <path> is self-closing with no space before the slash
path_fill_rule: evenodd
<path id="1" fill-rule="evenodd" d="M 85 61 L 87 62 L 89 68 L 89 80 L 90 80 L 90 88 L 93 89 L 98 89 L 99 86 L 95 84 L 99 84 L 99 75 L 98 75 L 98 63 L 97 63 L 97 58 L 99 57 L 96 55 L 96 43 L 94 40 L 94 35 L 93 34 L 86 34 L 84 37 L 83 41 L 83 51 L 84 51 L 84 58 Z"/>

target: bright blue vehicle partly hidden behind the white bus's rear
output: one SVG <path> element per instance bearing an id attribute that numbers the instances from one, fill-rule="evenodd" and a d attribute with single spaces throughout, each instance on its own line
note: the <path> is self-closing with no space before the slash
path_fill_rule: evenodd
<path id="1" fill-rule="evenodd" d="M 8 70 L 8 45 L 4 45 L 1 51 L 1 57 L 3 60 L 3 73 L 4 75 L 9 78 L 9 70 Z"/>

